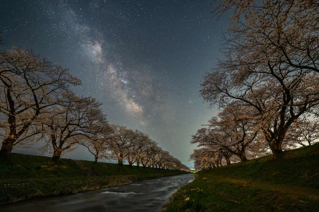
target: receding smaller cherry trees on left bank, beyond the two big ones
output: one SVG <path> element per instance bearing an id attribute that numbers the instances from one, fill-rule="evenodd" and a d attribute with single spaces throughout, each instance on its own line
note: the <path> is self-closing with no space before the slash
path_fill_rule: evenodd
<path id="1" fill-rule="evenodd" d="M 95 162 L 104 158 L 116 160 L 120 165 L 127 161 L 130 166 L 135 163 L 143 167 L 189 170 L 143 132 L 115 124 L 105 126 L 102 133 L 80 142 L 94 155 Z"/>

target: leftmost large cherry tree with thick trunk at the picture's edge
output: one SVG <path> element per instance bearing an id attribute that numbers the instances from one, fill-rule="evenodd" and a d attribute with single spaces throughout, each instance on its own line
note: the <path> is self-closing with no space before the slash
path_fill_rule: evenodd
<path id="1" fill-rule="evenodd" d="M 78 85 L 80 80 L 32 51 L 13 47 L 0 52 L 0 160 L 7 161 L 15 146 L 42 131 L 38 117 L 61 101 L 60 92 L 70 84 Z"/>

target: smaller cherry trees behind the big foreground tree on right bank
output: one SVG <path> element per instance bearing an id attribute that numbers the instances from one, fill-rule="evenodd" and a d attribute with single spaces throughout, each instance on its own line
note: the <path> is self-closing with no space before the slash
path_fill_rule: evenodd
<path id="1" fill-rule="evenodd" d="M 246 107 L 247 108 L 247 107 Z M 251 108 L 249 108 L 251 109 Z M 198 170 L 245 162 L 247 159 L 271 154 L 271 148 L 261 130 L 259 119 L 249 116 L 244 106 L 229 106 L 208 121 L 208 125 L 192 135 L 194 150 L 190 159 Z M 288 129 L 281 145 L 282 150 L 307 146 L 319 141 L 318 119 L 300 119 Z"/>

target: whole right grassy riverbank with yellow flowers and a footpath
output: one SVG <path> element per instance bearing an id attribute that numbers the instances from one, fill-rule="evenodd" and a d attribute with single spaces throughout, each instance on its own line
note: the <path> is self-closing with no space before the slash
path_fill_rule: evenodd
<path id="1" fill-rule="evenodd" d="M 172 211 L 319 211 L 319 143 L 196 174 Z"/>

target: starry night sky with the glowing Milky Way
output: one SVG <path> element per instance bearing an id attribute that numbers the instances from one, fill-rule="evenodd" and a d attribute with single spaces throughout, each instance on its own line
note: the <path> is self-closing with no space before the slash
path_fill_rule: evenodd
<path id="1" fill-rule="evenodd" d="M 140 130 L 162 149 L 194 167 L 190 144 L 217 110 L 199 96 L 199 83 L 214 67 L 226 15 L 211 18 L 201 0 L 22 1 L 0 0 L 0 32 L 12 45 L 32 49 L 70 69 L 109 123 Z M 40 154 L 36 149 L 14 152 Z M 65 157 L 93 160 L 79 148 Z"/>

